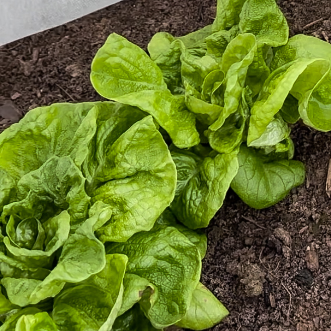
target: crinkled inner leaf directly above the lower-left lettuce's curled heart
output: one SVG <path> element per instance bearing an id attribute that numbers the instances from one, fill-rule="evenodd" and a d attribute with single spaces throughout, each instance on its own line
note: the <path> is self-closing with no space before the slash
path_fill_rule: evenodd
<path id="1" fill-rule="evenodd" d="M 36 217 L 47 220 L 53 214 L 68 210 L 71 224 L 86 218 L 90 198 L 84 190 L 85 178 L 81 170 L 67 157 L 51 157 L 40 168 L 25 174 L 17 183 L 15 202 L 3 208 L 7 215 L 20 218 Z"/>

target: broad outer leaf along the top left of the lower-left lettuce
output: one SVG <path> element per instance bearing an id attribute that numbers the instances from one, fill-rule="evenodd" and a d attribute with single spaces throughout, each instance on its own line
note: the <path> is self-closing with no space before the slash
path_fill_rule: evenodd
<path id="1" fill-rule="evenodd" d="M 71 156 L 81 166 L 96 130 L 98 104 L 55 103 L 30 110 L 1 133 L 0 168 L 18 181 L 53 156 Z"/>

